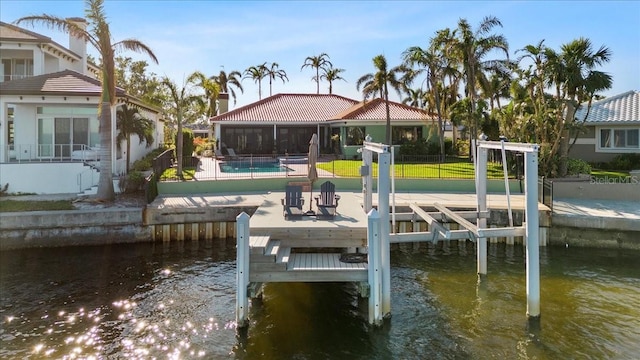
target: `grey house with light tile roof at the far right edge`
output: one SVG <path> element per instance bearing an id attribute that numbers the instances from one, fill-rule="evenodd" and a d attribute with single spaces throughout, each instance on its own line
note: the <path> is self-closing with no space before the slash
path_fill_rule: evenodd
<path id="1" fill-rule="evenodd" d="M 569 156 L 596 163 L 620 154 L 640 154 L 639 91 L 594 101 L 590 109 L 582 104 L 576 119 L 584 121 L 586 132 L 578 136 Z"/>

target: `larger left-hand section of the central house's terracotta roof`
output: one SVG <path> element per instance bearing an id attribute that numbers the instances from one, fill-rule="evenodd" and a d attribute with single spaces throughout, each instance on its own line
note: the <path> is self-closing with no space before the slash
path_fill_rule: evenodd
<path id="1" fill-rule="evenodd" d="M 329 94 L 276 94 L 255 103 L 212 117 L 211 122 L 317 123 L 335 115 L 357 101 Z"/>

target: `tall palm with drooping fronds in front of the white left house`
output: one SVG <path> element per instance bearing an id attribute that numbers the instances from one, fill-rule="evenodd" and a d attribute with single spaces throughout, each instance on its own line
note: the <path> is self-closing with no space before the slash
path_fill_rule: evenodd
<path id="1" fill-rule="evenodd" d="M 113 169 L 111 149 L 113 148 L 113 136 L 111 134 L 112 109 L 116 104 L 116 72 L 115 53 L 131 50 L 147 54 L 155 63 L 158 59 L 151 49 L 136 39 L 125 39 L 111 42 L 109 22 L 104 11 L 103 0 L 86 0 L 85 16 L 89 20 L 89 29 L 84 24 L 79 24 L 78 19 L 64 19 L 52 15 L 26 16 L 16 20 L 16 24 L 41 24 L 50 29 L 74 35 L 89 42 L 96 48 L 101 57 L 102 94 L 100 105 L 100 178 L 98 179 L 98 192 L 96 197 L 101 200 L 112 201 L 115 198 L 113 189 Z"/>

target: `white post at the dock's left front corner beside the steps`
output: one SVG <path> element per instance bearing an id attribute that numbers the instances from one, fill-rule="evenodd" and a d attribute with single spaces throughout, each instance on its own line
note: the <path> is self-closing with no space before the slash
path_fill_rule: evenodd
<path id="1" fill-rule="evenodd" d="M 236 217 L 236 324 L 248 325 L 249 297 L 249 215 L 242 212 Z"/>

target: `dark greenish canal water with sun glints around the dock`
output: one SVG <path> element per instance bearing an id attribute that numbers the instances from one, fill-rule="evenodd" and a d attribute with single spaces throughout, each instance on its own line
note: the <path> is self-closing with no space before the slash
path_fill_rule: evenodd
<path id="1" fill-rule="evenodd" d="M 540 249 L 541 312 L 526 320 L 521 246 L 392 252 L 392 316 L 367 323 L 349 284 L 269 284 L 234 320 L 235 241 L 0 253 L 2 359 L 635 359 L 640 252 Z"/>

